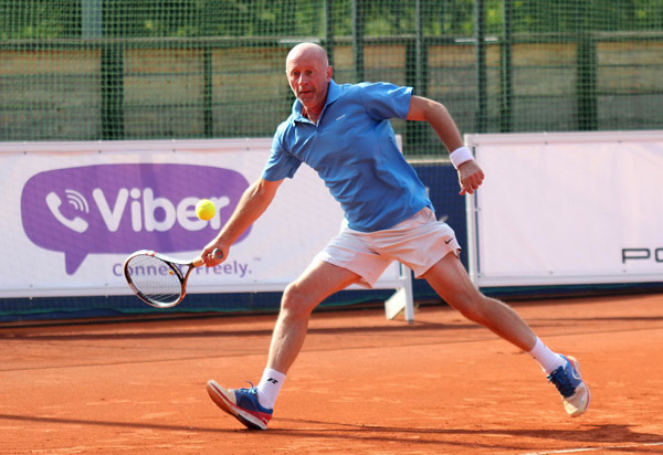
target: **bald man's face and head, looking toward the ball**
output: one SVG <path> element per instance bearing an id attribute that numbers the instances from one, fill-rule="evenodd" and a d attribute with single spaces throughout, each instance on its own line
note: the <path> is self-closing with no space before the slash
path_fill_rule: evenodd
<path id="1" fill-rule="evenodd" d="M 308 110 L 322 110 L 327 99 L 332 66 L 313 49 L 288 55 L 285 72 L 293 93 Z"/>

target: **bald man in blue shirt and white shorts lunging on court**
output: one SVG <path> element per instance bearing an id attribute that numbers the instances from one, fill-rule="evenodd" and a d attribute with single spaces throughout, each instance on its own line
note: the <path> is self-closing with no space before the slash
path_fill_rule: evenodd
<path id="1" fill-rule="evenodd" d="M 317 171 L 345 211 L 339 234 L 283 293 L 266 368 L 257 387 L 225 389 L 208 382 L 211 399 L 250 428 L 265 430 L 295 361 L 313 309 L 351 284 L 371 287 L 392 261 L 410 267 L 467 319 L 532 355 L 557 387 L 566 411 L 578 416 L 590 401 L 576 359 L 552 352 L 507 305 L 485 297 L 459 260 L 453 230 L 435 219 L 425 187 L 399 151 L 390 118 L 425 120 L 451 154 L 461 194 L 484 179 L 446 108 L 388 83 L 338 85 L 325 50 L 298 44 L 286 59 L 296 100 L 274 135 L 272 154 L 234 213 L 201 252 L 207 266 L 229 257 L 231 245 L 272 202 L 283 179 L 302 162 Z"/>

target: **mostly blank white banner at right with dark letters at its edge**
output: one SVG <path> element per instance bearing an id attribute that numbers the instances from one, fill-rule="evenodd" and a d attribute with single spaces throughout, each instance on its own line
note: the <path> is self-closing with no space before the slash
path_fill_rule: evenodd
<path id="1" fill-rule="evenodd" d="M 663 131 L 467 135 L 478 286 L 663 282 Z"/>

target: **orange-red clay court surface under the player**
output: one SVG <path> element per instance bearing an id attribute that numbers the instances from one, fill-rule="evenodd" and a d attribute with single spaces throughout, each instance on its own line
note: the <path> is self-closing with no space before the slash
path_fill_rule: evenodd
<path id="1" fill-rule="evenodd" d="M 315 313 L 265 432 L 204 384 L 257 381 L 275 315 L 0 329 L 2 454 L 661 454 L 663 295 L 513 304 L 576 356 L 570 419 L 538 364 L 446 306 Z"/>

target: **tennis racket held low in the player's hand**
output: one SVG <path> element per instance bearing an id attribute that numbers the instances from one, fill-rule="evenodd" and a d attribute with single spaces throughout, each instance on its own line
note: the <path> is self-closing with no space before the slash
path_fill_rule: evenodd
<path id="1" fill-rule="evenodd" d="M 223 252 L 219 248 L 212 254 L 219 260 L 223 258 Z M 140 250 L 127 257 L 124 274 L 129 287 L 143 301 L 157 308 L 170 308 L 182 301 L 191 271 L 201 265 L 201 258 L 179 261 Z M 182 268 L 186 268 L 183 273 Z"/>

